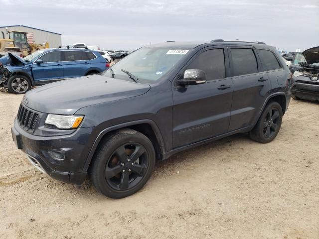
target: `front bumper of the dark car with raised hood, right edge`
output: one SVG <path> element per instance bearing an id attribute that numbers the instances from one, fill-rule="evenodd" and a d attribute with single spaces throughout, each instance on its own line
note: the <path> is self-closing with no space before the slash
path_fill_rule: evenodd
<path id="1" fill-rule="evenodd" d="M 319 101 L 319 83 L 295 82 L 291 87 L 291 93 L 300 99 Z"/>

